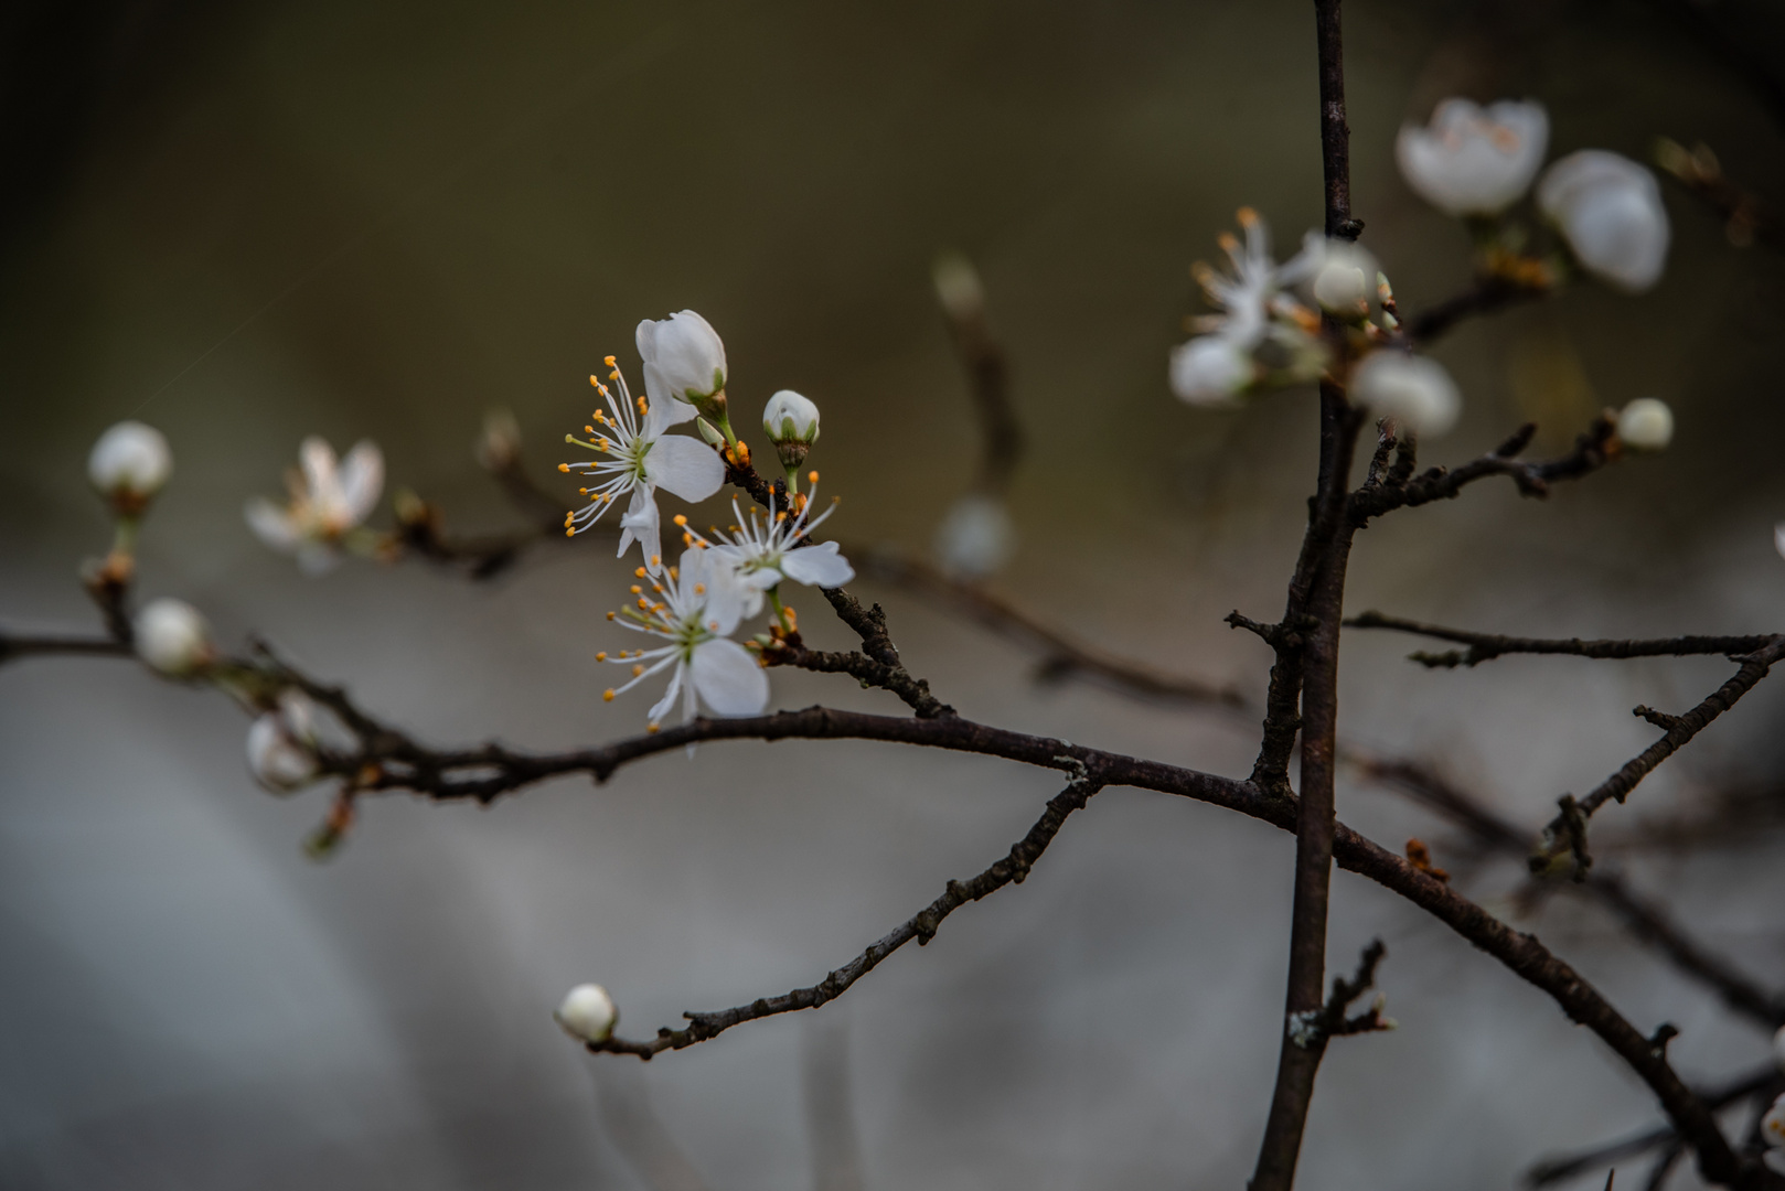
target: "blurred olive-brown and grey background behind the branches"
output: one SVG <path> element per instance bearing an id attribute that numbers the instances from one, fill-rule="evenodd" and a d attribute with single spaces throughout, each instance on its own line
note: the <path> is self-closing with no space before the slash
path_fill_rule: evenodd
<path id="1" fill-rule="evenodd" d="M 1785 196 L 1776 84 L 1705 20 L 1762 75 L 1780 64 L 1760 4 L 1349 4 L 1355 209 L 1403 309 L 1467 280 L 1464 230 L 1392 164 L 1396 127 L 1448 93 L 1544 100 L 1553 154 L 1703 139 Z M 625 584 L 610 546 L 546 548 L 486 586 L 421 564 L 303 580 L 243 502 L 320 432 L 377 439 L 393 484 L 457 529 L 512 527 L 471 461 L 482 411 L 511 407 L 541 482 L 568 489 L 553 443 L 587 418 L 587 373 L 614 352 L 635 377 L 634 323 L 694 307 L 725 336 L 739 425 L 778 387 L 823 405 L 812 464 L 844 498 L 835 532 L 923 550 L 978 448 L 928 282 L 953 248 L 984 271 L 1032 443 L 998 587 L 1110 650 L 1262 693 L 1264 648 L 1219 618 L 1282 605 L 1312 396 L 1194 412 L 1166 352 L 1200 309 L 1187 266 L 1237 205 L 1285 246 L 1319 221 L 1305 2 L 21 0 L 0 37 L 7 625 L 93 620 L 75 571 L 107 529 L 86 452 L 136 416 L 177 459 L 145 596 L 193 600 L 230 643 L 268 636 L 427 739 L 632 734 L 650 696 L 596 698 L 593 654 L 616 641 L 600 612 Z M 1398 514 L 1358 543 L 1353 609 L 1533 634 L 1785 625 L 1785 270 L 1690 195 L 1667 202 L 1655 293 L 1580 289 L 1437 348 L 1467 414 L 1428 455 L 1480 454 L 1524 418 L 1553 448 L 1644 395 L 1673 404 L 1674 448 L 1548 504 L 1482 486 Z M 859 589 L 964 714 L 1250 766 L 1250 721 L 1039 686 L 1021 650 Z M 809 639 L 846 645 L 816 596 L 794 602 Z M 1533 829 L 1653 739 L 1633 704 L 1680 711 L 1724 675 L 1428 673 L 1401 637 L 1344 648 L 1348 737 L 1430 759 Z M 782 707 L 898 711 L 848 680 L 773 684 Z M 1781 707 L 1762 689 L 1596 825 L 1606 857 L 1778 982 L 1785 841 L 1767 816 L 1692 848 L 1640 827 L 1778 789 Z M 709 746 L 489 811 L 375 800 L 316 864 L 300 841 L 327 795 L 261 793 L 245 729 L 223 698 L 112 661 L 0 671 L 0 1186 L 1235 1187 L 1250 1170 L 1283 834 L 1108 791 L 1025 886 L 844 1000 L 641 1068 L 557 1032 L 564 989 L 603 982 L 648 1036 L 812 984 L 1001 855 L 1055 779 L 880 745 Z M 1348 784 L 1341 814 L 1448 859 L 1453 836 L 1392 795 Z M 1458 879 L 1519 912 L 1515 866 Z M 1639 1027 L 1678 1025 L 1689 1077 L 1765 1059 L 1762 1032 L 1603 914 L 1558 898 L 1515 921 Z M 1333 1046 L 1301 1186 L 1507 1187 L 1655 1120 L 1546 998 L 1339 875 L 1333 964 L 1373 934 L 1401 1029 Z"/>

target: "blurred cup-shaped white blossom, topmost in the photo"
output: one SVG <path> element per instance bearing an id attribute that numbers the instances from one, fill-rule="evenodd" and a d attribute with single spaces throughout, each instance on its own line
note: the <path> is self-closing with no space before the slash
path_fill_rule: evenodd
<path id="1" fill-rule="evenodd" d="M 1549 145 L 1544 105 L 1501 100 L 1485 109 L 1449 98 L 1426 127 L 1401 125 L 1394 159 L 1416 195 L 1446 214 L 1499 214 L 1530 189 Z"/>

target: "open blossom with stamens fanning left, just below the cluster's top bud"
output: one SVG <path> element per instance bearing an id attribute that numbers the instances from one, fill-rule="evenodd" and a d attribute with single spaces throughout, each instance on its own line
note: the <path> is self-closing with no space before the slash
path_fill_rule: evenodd
<path id="1" fill-rule="evenodd" d="M 618 554 L 623 555 L 627 546 L 637 541 L 644 552 L 644 568 L 655 575 L 662 570 L 657 489 L 662 487 L 689 502 L 705 500 L 725 484 L 725 464 L 698 439 L 668 434 L 669 427 L 694 416 L 693 405 L 655 393 L 650 400 L 634 396 L 612 355 L 607 357 L 607 366 L 612 389 L 598 377 L 589 377 L 607 400 L 607 412 L 594 411 L 596 425 L 584 427 L 593 441 L 564 436 L 566 443 L 605 455 L 594 462 L 559 464 L 559 471 L 580 471 L 600 479 L 594 487 L 580 489 L 589 496 L 589 504 L 564 516 L 564 532 L 568 536 L 584 532 L 600 521 L 619 496 L 630 495 L 627 511 L 619 518 Z"/>

